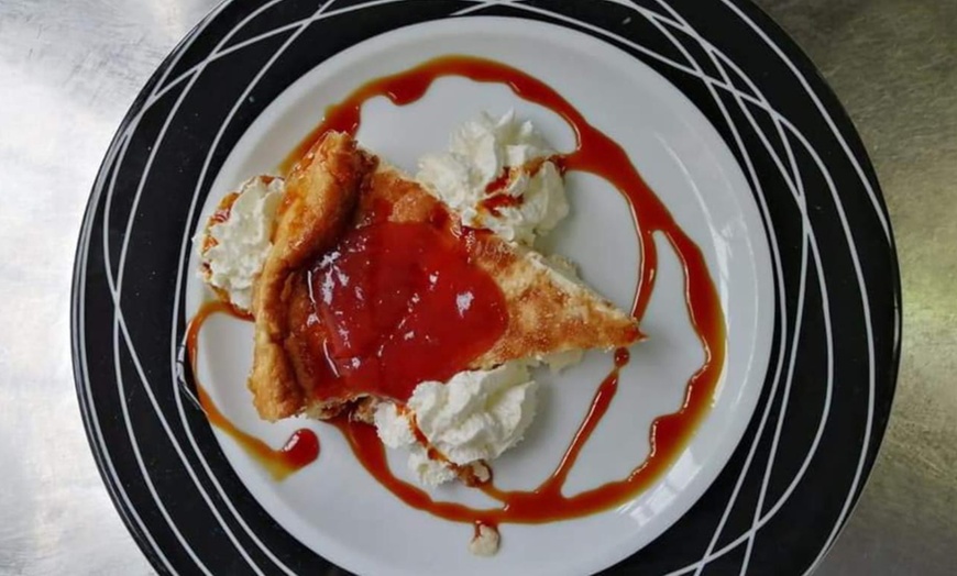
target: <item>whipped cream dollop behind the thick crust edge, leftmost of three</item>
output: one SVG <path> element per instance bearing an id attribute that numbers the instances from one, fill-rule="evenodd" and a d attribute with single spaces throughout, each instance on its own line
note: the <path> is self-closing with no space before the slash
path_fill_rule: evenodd
<path id="1" fill-rule="evenodd" d="M 250 310 L 253 284 L 263 269 L 272 247 L 276 209 L 285 181 L 255 176 L 240 186 L 226 218 L 213 217 L 206 230 L 194 239 L 200 273 L 212 287 L 229 295 L 237 308 Z"/>

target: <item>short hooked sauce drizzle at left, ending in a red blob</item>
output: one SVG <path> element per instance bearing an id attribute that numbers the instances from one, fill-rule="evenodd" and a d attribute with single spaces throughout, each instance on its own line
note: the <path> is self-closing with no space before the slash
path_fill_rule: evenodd
<path id="1" fill-rule="evenodd" d="M 319 436 L 308 429 L 297 430 L 289 436 L 282 448 L 273 448 L 262 440 L 239 429 L 233 424 L 209 397 L 206 389 L 196 377 L 196 358 L 198 353 L 199 330 L 209 317 L 215 313 L 226 313 L 239 320 L 250 320 L 250 317 L 237 311 L 232 306 L 211 300 L 202 304 L 189 326 L 186 329 L 186 351 L 189 354 L 189 365 L 193 368 L 196 391 L 199 403 L 209 419 L 209 423 L 226 432 L 253 459 L 257 461 L 276 480 L 282 480 L 296 470 L 308 466 L 319 457 Z"/>

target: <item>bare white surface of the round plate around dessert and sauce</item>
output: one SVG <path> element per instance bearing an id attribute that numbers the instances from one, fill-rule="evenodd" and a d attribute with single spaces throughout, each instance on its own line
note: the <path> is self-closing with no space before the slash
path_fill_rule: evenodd
<path id="1" fill-rule="evenodd" d="M 504 524 L 497 556 L 468 552 L 472 527 L 411 509 L 382 488 L 355 461 L 340 434 L 324 424 L 260 421 L 245 388 L 252 329 L 227 318 L 200 336 L 198 376 L 220 409 L 240 428 L 280 445 L 308 427 L 321 439 L 319 461 L 276 483 L 228 436 L 223 452 L 260 503 L 316 553 L 363 574 L 579 574 L 632 554 L 668 529 L 717 476 L 744 433 L 767 369 L 773 297 L 770 256 L 751 192 L 715 130 L 657 73 L 590 36 L 512 19 L 470 18 L 402 29 L 354 46 L 316 67 L 270 104 L 231 152 L 204 214 L 250 176 L 275 166 L 320 120 L 326 106 L 360 85 L 447 54 L 470 54 L 517 67 L 550 85 L 596 128 L 628 152 L 648 184 L 698 244 L 718 287 L 727 321 L 728 352 L 715 405 L 669 473 L 626 505 L 583 519 L 539 525 Z M 572 148 L 572 132 L 550 111 L 507 87 L 464 78 L 437 81 L 419 102 L 397 108 L 385 99 L 363 109 L 361 143 L 407 170 L 427 152 L 443 149 L 451 131 L 485 110 L 514 109 L 531 119 L 554 147 Z M 568 178 L 573 214 L 544 243 L 575 261 L 584 279 L 618 306 L 634 297 L 638 247 L 627 204 L 607 182 Z M 649 451 L 652 420 L 673 412 L 702 350 L 684 304 L 684 278 L 663 239 L 658 286 L 618 395 L 569 478 L 566 494 L 622 478 Z M 195 258 L 191 266 L 195 266 Z M 208 292 L 188 288 L 187 310 Z M 590 353 L 581 365 L 553 376 L 539 370 L 541 413 L 526 441 L 496 462 L 504 487 L 531 488 L 558 463 L 612 366 Z M 394 469 L 406 475 L 404 455 Z M 487 503 L 464 488 L 433 497 Z"/>

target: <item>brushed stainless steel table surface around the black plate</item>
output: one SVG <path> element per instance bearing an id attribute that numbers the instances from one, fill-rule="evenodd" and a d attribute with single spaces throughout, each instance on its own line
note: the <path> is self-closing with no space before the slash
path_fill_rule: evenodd
<path id="1" fill-rule="evenodd" d="M 150 574 L 100 483 L 69 356 L 80 217 L 121 117 L 216 0 L 0 0 L 0 574 Z M 884 189 L 904 351 L 881 455 L 823 574 L 957 571 L 957 1 L 759 0 Z"/>

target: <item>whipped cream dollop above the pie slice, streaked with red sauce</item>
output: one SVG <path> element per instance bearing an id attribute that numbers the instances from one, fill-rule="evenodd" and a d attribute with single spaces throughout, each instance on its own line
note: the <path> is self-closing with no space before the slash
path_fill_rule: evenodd
<path id="1" fill-rule="evenodd" d="M 416 178 L 463 224 L 531 245 L 569 213 L 554 155 L 530 121 L 483 112 L 452 134 L 448 152 L 424 156 Z"/>

